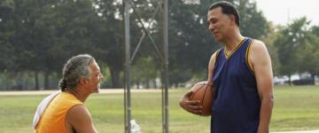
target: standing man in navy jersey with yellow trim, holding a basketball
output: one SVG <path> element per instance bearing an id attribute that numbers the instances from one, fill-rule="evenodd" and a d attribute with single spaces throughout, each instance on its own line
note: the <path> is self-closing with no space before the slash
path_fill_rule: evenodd
<path id="1" fill-rule="evenodd" d="M 207 82 L 214 86 L 211 132 L 268 133 L 273 108 L 273 74 L 264 43 L 240 34 L 239 14 L 233 4 L 221 1 L 210 6 L 207 26 L 223 48 L 214 52 Z M 257 30 L 257 29 L 256 29 Z M 190 113 L 201 113 L 191 92 L 180 100 Z"/>

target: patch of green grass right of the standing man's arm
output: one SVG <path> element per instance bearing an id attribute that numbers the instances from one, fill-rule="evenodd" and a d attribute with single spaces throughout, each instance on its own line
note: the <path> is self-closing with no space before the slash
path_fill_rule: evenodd
<path id="1" fill-rule="evenodd" d="M 276 87 L 270 129 L 319 129 L 319 86 Z"/>

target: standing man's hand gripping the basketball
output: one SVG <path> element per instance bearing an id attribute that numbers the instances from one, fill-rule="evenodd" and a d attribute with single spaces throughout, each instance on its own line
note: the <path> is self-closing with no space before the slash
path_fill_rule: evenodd
<path id="1" fill-rule="evenodd" d="M 191 94 L 192 91 L 187 92 L 180 100 L 179 105 L 189 113 L 202 113 L 203 106 L 200 106 L 200 101 L 198 100 L 190 100 Z"/>

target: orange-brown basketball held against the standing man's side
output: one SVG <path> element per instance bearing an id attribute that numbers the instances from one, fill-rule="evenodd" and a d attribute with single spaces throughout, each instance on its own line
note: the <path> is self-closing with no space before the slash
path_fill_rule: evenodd
<path id="1" fill-rule="evenodd" d="M 212 114 L 214 91 L 212 86 L 207 82 L 198 82 L 191 87 L 192 94 L 190 100 L 199 100 L 203 110 L 202 116 L 209 116 Z"/>

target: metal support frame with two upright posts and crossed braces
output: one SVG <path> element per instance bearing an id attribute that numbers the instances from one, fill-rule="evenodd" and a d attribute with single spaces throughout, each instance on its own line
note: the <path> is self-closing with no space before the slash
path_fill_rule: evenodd
<path id="1" fill-rule="evenodd" d="M 124 4 L 124 27 L 125 27 L 125 86 L 124 86 L 124 123 L 125 123 L 125 132 L 131 132 L 131 98 L 130 98 L 130 71 L 131 64 L 135 58 L 136 52 L 140 48 L 144 36 L 147 35 L 155 50 L 157 51 L 157 56 L 160 59 L 160 62 L 163 66 L 162 69 L 162 129 L 163 133 L 168 133 L 168 4 L 167 0 L 162 0 L 162 10 L 163 10 L 163 51 L 159 51 L 158 45 L 153 41 L 152 35 L 144 27 L 144 23 L 141 20 L 141 17 L 135 10 L 135 6 L 131 0 L 122 0 Z M 133 8 L 133 12 L 136 13 L 137 20 L 142 24 L 143 36 L 141 37 L 139 43 L 137 44 L 136 51 L 134 51 L 132 58 L 130 57 L 130 27 L 129 27 L 129 9 Z M 154 12 L 153 17 L 155 17 L 157 10 Z M 153 18 L 152 17 L 152 18 Z M 163 89 L 164 88 L 164 89 Z M 163 96 L 164 95 L 164 96 Z"/>

